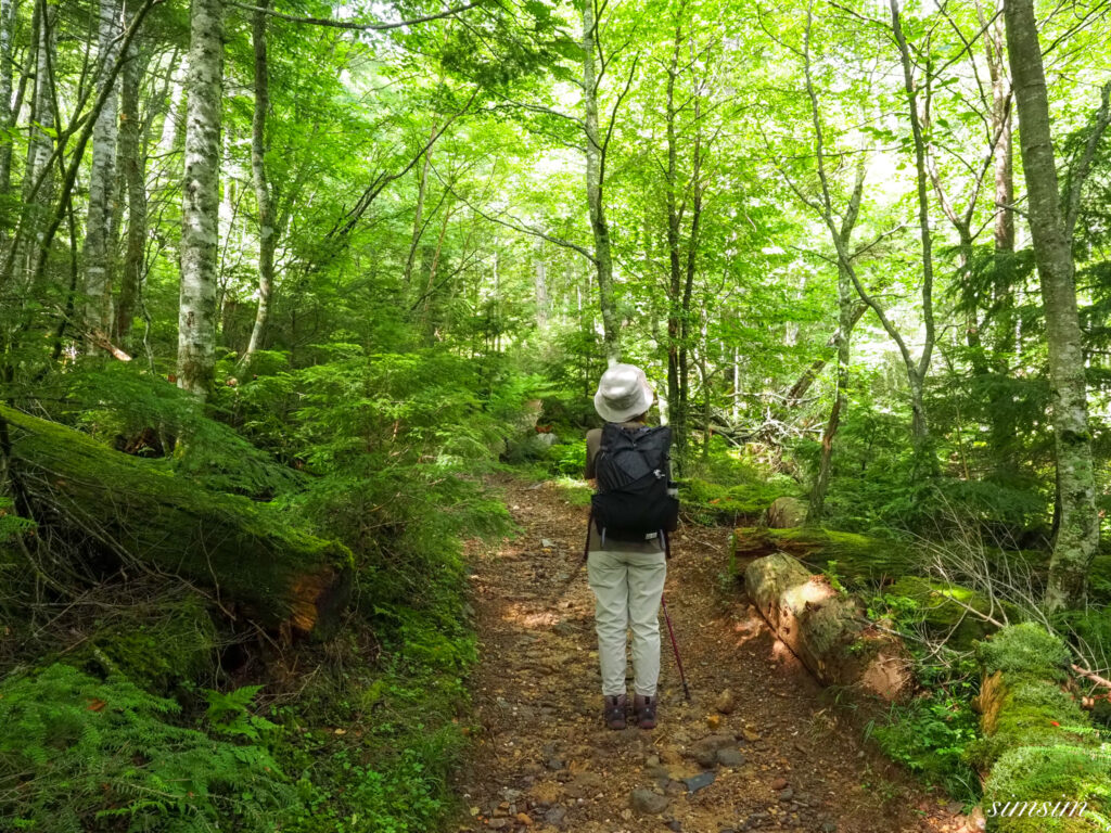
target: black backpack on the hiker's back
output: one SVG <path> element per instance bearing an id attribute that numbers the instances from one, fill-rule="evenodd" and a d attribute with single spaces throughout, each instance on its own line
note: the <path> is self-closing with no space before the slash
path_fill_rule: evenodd
<path id="1" fill-rule="evenodd" d="M 608 422 L 594 459 L 598 491 L 591 513 L 599 534 L 615 541 L 643 541 L 673 532 L 679 499 L 668 493 L 671 429 L 622 428 Z"/>

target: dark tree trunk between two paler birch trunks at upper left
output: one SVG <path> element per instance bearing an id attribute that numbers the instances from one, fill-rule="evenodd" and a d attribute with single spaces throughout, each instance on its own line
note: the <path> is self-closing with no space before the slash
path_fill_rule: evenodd
<path id="1" fill-rule="evenodd" d="M 139 118 L 139 87 L 146 57 L 130 50 L 120 84 L 120 162 L 128 195 L 128 237 L 116 304 L 116 338 L 126 342 L 131 331 L 147 257 L 147 148 Z"/>

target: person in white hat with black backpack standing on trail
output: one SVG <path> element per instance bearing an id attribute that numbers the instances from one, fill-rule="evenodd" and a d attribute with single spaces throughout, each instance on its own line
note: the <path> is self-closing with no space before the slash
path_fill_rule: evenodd
<path id="1" fill-rule="evenodd" d="M 587 543 L 587 575 L 597 604 L 603 717 L 625 727 L 625 635 L 632 630 L 633 719 L 657 720 L 660 600 L 667 578 L 668 532 L 679 501 L 670 480 L 671 429 L 645 424 L 655 392 L 644 371 L 614 364 L 598 383 L 594 409 L 605 426 L 587 433 L 587 479 L 597 479 Z"/>

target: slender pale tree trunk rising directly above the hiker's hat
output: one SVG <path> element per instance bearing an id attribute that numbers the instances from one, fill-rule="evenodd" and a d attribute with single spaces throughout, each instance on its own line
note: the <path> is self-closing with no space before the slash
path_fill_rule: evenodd
<path id="1" fill-rule="evenodd" d="M 613 292 L 613 257 L 610 252 L 610 225 L 605 220 L 602 189 L 605 184 L 605 143 L 598 129 L 598 76 L 594 69 L 597 48 L 594 0 L 582 0 L 582 100 L 585 108 L 587 203 L 590 229 L 594 235 L 594 269 L 598 273 L 598 301 L 602 311 L 602 339 L 605 360 L 621 361 L 621 322 Z"/>

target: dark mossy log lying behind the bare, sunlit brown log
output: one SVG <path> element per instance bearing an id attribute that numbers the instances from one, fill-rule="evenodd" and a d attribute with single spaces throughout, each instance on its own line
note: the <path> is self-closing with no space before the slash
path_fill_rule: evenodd
<path id="1" fill-rule="evenodd" d="M 911 552 L 895 541 L 818 526 L 739 528 L 733 533 L 733 548 L 741 572 L 753 560 L 773 552 L 785 552 L 818 571 L 828 570 L 829 562 L 833 561 L 832 572 L 852 583 L 913 572 Z"/>

